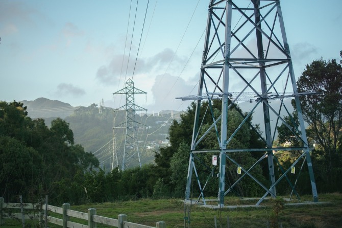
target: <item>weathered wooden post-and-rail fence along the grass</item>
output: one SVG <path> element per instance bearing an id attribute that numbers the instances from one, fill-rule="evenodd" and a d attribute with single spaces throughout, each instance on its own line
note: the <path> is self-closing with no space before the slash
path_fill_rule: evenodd
<path id="1" fill-rule="evenodd" d="M 45 200 L 47 202 L 47 198 Z M 20 210 L 21 213 L 5 213 L 6 209 Z M 29 212 L 29 213 L 28 213 Z M 62 219 L 48 215 L 53 212 L 62 215 Z M 84 219 L 88 225 L 70 221 L 70 217 Z M 70 210 L 69 203 L 63 203 L 62 208 L 43 203 L 5 203 L 4 198 L 0 198 L 0 226 L 5 223 L 4 219 L 21 219 L 22 227 L 25 227 L 25 219 L 39 220 L 42 227 L 47 227 L 47 222 L 54 223 L 63 228 L 95 228 L 97 223 L 106 224 L 118 228 L 153 228 L 127 221 L 127 215 L 120 214 L 117 219 L 96 215 L 95 208 L 89 208 L 88 213 Z M 46 218 L 46 219 L 45 219 Z M 165 222 L 156 222 L 156 228 L 166 228 Z"/>

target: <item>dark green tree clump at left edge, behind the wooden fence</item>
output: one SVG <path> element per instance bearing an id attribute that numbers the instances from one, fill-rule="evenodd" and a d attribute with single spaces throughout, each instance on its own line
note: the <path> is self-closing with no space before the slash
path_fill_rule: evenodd
<path id="1" fill-rule="evenodd" d="M 74 180 L 99 161 L 74 144 L 66 121 L 57 118 L 49 129 L 44 120 L 27 115 L 22 103 L 0 102 L 0 195 L 10 201 L 19 194 L 30 200 L 45 194 L 51 202 L 75 200 L 80 187 Z"/>

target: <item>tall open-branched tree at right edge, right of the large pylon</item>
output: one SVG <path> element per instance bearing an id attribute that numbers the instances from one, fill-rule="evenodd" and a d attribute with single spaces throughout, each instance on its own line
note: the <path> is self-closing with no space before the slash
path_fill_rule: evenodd
<path id="1" fill-rule="evenodd" d="M 340 55 L 342 57 L 342 52 Z M 300 104 L 303 119 L 309 124 L 308 135 L 324 151 L 332 175 L 332 168 L 340 162 L 341 156 L 337 154 L 337 146 L 342 130 L 342 66 L 335 59 L 314 60 L 306 65 L 297 87 L 300 93 L 316 93 L 302 96 Z"/>

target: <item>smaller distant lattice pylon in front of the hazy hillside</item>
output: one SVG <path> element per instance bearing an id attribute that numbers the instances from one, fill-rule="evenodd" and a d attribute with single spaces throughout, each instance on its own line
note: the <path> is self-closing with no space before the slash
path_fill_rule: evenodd
<path id="1" fill-rule="evenodd" d="M 124 108 L 124 110 L 126 111 L 126 121 L 124 123 L 119 124 L 118 126 L 114 126 L 114 129 L 123 128 L 126 130 L 125 147 L 124 147 L 124 152 L 122 155 L 121 170 L 125 170 L 129 165 L 130 166 L 139 165 L 141 168 L 140 151 L 138 147 L 136 129 L 137 127 L 140 127 L 142 124 L 135 121 L 135 111 L 147 111 L 147 109 L 142 108 L 135 104 L 134 97 L 136 94 L 146 95 L 146 92 L 143 92 L 142 90 L 134 87 L 134 83 L 131 79 L 127 80 L 125 88 L 120 89 L 117 92 L 113 93 L 114 101 L 115 101 L 115 95 L 126 95 L 126 104 L 118 108 L 118 109 Z M 114 137 L 115 137 L 115 134 L 114 134 Z M 113 156 L 113 159 L 114 159 L 114 156 Z M 117 152 L 116 152 L 116 159 L 117 159 Z"/>

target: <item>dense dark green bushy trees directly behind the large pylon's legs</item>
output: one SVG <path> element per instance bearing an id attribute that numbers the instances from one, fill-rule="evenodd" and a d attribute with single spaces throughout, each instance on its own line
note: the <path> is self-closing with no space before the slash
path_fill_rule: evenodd
<path id="1" fill-rule="evenodd" d="M 219 110 L 221 110 L 221 101 L 213 100 L 212 102 L 212 110 L 215 115 L 219 115 Z M 204 107 L 208 105 L 207 101 L 204 101 L 202 104 Z M 189 162 L 189 152 L 190 152 L 190 143 L 191 143 L 191 135 L 193 128 L 193 119 L 195 115 L 196 104 L 193 102 L 188 107 L 187 111 L 181 115 L 180 122 L 174 122 L 169 128 L 169 140 L 170 147 L 160 149 L 156 153 L 155 162 L 157 164 L 157 168 L 163 170 L 164 175 L 162 176 L 165 183 L 169 183 L 170 189 L 172 190 L 172 196 L 174 197 L 184 197 L 185 194 L 185 186 L 186 186 L 186 178 L 187 178 L 187 166 Z M 205 115 L 205 109 L 201 110 L 200 116 Z M 228 111 L 229 122 L 228 126 L 230 128 L 228 130 L 232 131 L 236 124 L 240 123 L 238 118 L 240 117 L 239 112 L 242 112 L 239 107 L 231 108 Z M 218 116 L 217 116 L 218 117 Z M 217 118 L 216 117 L 216 118 Z M 210 125 L 212 119 L 210 115 L 205 116 L 205 120 L 203 121 L 204 125 Z M 219 128 L 220 123 L 217 123 Z M 208 129 L 208 127 L 203 127 L 203 129 Z M 258 129 L 258 126 L 255 126 Z M 218 129 L 219 131 L 219 129 Z M 241 130 L 234 136 L 231 146 L 236 148 L 237 146 L 240 148 L 253 148 L 254 146 L 260 145 L 262 142 L 256 140 L 257 136 L 253 133 L 254 129 L 247 123 L 241 127 Z M 204 132 L 200 132 L 199 137 Z M 203 140 L 199 145 L 198 149 L 209 148 L 209 149 L 217 149 L 219 145 L 217 143 L 217 135 L 214 129 L 209 132 L 207 138 Z M 217 186 L 218 180 L 216 178 L 216 174 L 218 173 L 219 167 L 212 167 L 212 153 L 199 153 L 196 154 L 197 159 L 202 161 L 202 165 L 197 166 L 197 171 L 199 174 L 199 179 L 206 181 L 208 179 L 208 183 L 206 185 L 206 194 L 207 196 L 217 196 Z M 255 156 L 255 157 L 254 157 Z M 261 154 L 252 155 L 249 152 L 236 152 L 232 155 L 233 159 L 240 164 L 252 166 L 256 159 L 261 157 Z M 228 163 L 228 172 L 227 172 L 227 180 L 228 183 L 233 183 L 239 176 L 236 174 L 235 166 Z M 213 173 L 211 173 L 211 169 L 213 168 Z M 267 167 L 265 167 L 267 169 Z M 257 165 L 255 169 L 252 171 L 254 176 L 260 177 L 261 181 L 265 182 L 266 179 L 263 177 L 263 170 L 260 165 Z M 210 177 L 211 176 L 211 177 Z M 169 181 L 167 181 L 169 180 Z M 196 180 L 194 180 L 196 181 Z M 239 185 L 234 189 L 235 193 L 239 196 L 253 196 L 257 193 L 260 193 L 261 188 L 254 183 L 252 179 L 246 178 L 241 181 Z M 199 192 L 195 192 L 194 195 L 199 195 Z"/>

